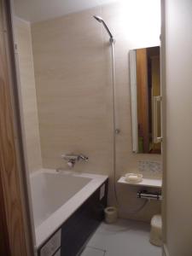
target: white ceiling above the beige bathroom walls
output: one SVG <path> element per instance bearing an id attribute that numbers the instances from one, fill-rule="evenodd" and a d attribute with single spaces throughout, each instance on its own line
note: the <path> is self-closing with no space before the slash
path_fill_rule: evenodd
<path id="1" fill-rule="evenodd" d="M 23 20 L 38 22 L 90 9 L 117 0 L 14 0 L 15 15 Z"/>

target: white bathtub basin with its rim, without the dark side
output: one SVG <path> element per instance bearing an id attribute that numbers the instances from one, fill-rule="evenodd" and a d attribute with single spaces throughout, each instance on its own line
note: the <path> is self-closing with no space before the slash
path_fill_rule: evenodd
<path id="1" fill-rule="evenodd" d="M 43 169 L 31 174 L 36 247 L 75 212 L 108 176 Z"/>

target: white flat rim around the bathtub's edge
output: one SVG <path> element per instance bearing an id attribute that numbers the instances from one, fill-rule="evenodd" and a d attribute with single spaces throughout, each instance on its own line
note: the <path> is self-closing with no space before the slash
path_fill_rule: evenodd
<path id="1" fill-rule="evenodd" d="M 35 227 L 35 247 L 41 247 L 49 236 L 54 234 L 56 230 L 61 227 L 67 218 L 70 218 L 72 214 L 86 201 L 90 195 L 92 195 L 96 189 L 98 189 L 102 183 L 107 179 L 107 175 L 85 173 L 85 172 L 72 172 L 72 171 L 60 171 L 57 172 L 54 169 L 40 169 L 37 172 L 32 172 L 30 178 L 38 176 L 41 173 L 51 173 L 53 175 L 70 175 L 73 177 L 85 177 L 90 178 L 90 182 L 87 183 L 78 193 L 73 195 L 64 205 L 59 207 L 53 214 L 46 218 L 42 224 Z M 34 222 L 34 219 L 33 219 Z"/>

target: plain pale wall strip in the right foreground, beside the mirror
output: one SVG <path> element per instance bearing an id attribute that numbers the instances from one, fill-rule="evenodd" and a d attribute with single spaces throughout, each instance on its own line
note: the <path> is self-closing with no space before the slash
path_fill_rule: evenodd
<path id="1" fill-rule="evenodd" d="M 192 236 L 192 2 L 166 7 L 166 247 L 190 256 Z"/>

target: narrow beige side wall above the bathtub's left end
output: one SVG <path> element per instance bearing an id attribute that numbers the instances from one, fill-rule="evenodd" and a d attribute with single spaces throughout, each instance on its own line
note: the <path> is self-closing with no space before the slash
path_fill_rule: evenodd
<path id="1" fill-rule="evenodd" d="M 42 160 L 30 24 L 25 20 L 15 18 L 15 36 L 20 72 L 20 103 L 22 105 L 26 157 L 28 169 L 32 172 L 37 171 L 42 166 Z"/>

